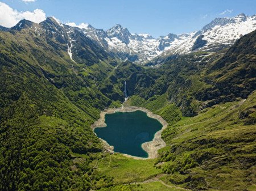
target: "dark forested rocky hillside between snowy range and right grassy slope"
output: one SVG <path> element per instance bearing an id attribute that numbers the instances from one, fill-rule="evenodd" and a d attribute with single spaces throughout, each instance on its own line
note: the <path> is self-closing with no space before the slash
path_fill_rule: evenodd
<path id="1" fill-rule="evenodd" d="M 255 90 L 255 38 L 256 31 L 228 50 L 179 56 L 156 69 L 122 63 L 109 80 L 111 84 L 119 81 L 121 87 L 126 79 L 128 94 L 144 99 L 167 92 L 167 99 L 184 116 L 195 116 L 205 107 L 246 98 Z"/>

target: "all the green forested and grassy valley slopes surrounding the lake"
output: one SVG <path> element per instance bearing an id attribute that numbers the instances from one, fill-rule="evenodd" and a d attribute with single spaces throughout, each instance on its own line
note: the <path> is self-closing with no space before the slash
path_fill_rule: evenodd
<path id="1" fill-rule="evenodd" d="M 0 31 L 0 190 L 164 190 L 119 180 L 146 165 L 141 182 L 160 174 L 192 190 L 255 189 L 256 31 L 230 49 L 149 68 L 120 62 L 82 35 L 85 48 L 72 61 L 55 20 L 23 22 Z M 168 122 L 167 147 L 150 162 L 110 156 L 90 129 L 100 111 L 121 106 L 124 80 L 126 105 Z"/>

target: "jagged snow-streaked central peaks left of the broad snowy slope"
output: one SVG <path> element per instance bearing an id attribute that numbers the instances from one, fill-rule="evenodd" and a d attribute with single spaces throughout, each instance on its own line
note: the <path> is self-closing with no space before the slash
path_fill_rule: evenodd
<path id="1" fill-rule="evenodd" d="M 159 54 L 154 52 L 157 44 L 154 38 L 150 35 L 131 34 L 119 24 L 107 31 L 88 26 L 81 28 L 81 32 L 122 61 L 144 63 Z"/>

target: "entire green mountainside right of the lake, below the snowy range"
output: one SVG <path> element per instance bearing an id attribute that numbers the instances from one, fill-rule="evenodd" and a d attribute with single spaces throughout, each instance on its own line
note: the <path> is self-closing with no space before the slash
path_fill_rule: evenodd
<path id="1" fill-rule="evenodd" d="M 156 69 L 126 62 L 113 74 L 126 80 L 132 95 L 126 105 L 168 122 L 167 146 L 155 162 L 165 173 L 158 181 L 191 190 L 254 190 L 255 38 L 253 31 L 228 51 L 185 54 Z"/>

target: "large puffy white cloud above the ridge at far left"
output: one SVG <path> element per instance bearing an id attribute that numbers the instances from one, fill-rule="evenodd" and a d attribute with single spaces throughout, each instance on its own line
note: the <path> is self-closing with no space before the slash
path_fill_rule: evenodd
<path id="1" fill-rule="evenodd" d="M 9 5 L 0 2 L 0 25 L 3 27 L 13 27 L 20 20 L 27 19 L 34 23 L 40 23 L 46 20 L 46 13 L 41 9 L 34 11 L 19 12 Z"/>

